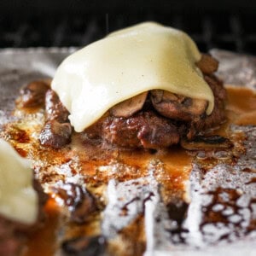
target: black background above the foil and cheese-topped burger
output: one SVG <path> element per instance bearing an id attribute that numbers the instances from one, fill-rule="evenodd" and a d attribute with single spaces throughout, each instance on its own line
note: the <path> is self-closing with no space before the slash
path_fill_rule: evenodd
<path id="1" fill-rule="evenodd" d="M 256 1 L 1 0 L 0 48 L 83 46 L 155 20 L 188 32 L 201 51 L 256 55 Z"/>

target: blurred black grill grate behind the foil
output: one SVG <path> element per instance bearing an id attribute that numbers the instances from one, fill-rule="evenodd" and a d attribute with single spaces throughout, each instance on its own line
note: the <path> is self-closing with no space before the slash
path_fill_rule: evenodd
<path id="1" fill-rule="evenodd" d="M 212 48 L 256 54 L 256 15 L 205 14 L 108 15 L 109 32 L 143 20 L 155 20 L 188 32 L 201 51 Z M 0 48 L 83 46 L 106 34 L 106 15 L 31 17 L 0 20 Z"/>

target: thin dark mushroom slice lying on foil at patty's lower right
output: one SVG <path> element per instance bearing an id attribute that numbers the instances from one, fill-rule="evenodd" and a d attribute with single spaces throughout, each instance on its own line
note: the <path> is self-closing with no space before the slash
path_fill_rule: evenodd
<path id="1" fill-rule="evenodd" d="M 188 141 L 186 139 L 181 140 L 181 146 L 188 150 L 207 150 L 207 149 L 214 149 L 214 148 L 231 148 L 233 144 L 230 140 L 226 137 L 221 137 L 218 135 L 214 135 L 211 137 L 202 137 L 197 136 L 194 138 L 193 141 Z"/>

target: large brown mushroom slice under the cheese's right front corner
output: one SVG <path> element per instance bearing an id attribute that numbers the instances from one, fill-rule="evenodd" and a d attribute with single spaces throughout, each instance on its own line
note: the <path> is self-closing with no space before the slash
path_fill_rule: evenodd
<path id="1" fill-rule="evenodd" d="M 151 90 L 154 108 L 170 119 L 191 121 L 206 112 L 207 101 L 178 96 L 166 90 Z"/>

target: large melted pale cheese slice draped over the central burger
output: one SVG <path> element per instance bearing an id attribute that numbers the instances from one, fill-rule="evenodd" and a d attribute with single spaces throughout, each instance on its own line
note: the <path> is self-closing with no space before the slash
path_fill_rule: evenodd
<path id="1" fill-rule="evenodd" d="M 52 81 L 70 112 L 75 131 L 83 131 L 115 104 L 154 89 L 209 102 L 214 98 L 195 62 L 201 54 L 189 36 L 153 22 L 113 32 L 67 57 Z"/>

